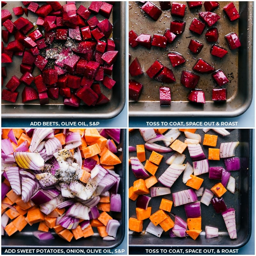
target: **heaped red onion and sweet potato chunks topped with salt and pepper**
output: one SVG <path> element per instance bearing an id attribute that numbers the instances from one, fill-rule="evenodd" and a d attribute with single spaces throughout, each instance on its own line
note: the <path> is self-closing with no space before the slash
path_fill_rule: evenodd
<path id="1" fill-rule="evenodd" d="M 2 129 L 2 235 L 39 223 L 39 240 L 115 240 L 120 129 Z M 103 136 L 104 135 L 104 136 Z"/>

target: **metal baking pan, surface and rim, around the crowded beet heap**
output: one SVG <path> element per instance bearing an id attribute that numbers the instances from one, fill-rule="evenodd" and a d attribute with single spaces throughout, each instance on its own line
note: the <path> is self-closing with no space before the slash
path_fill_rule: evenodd
<path id="1" fill-rule="evenodd" d="M 40 2 L 39 4 L 41 5 Z M 66 2 L 60 2 L 62 5 Z M 83 4 L 86 8 L 91 2 L 77 2 L 76 7 Z M 12 21 L 18 17 L 13 14 L 12 8 L 17 6 L 23 6 L 21 2 L 7 2 L 2 9 L 8 9 L 12 13 Z M 28 17 L 24 14 L 24 18 L 36 22 L 37 17 L 32 12 L 28 12 Z M 90 17 L 93 15 L 91 14 Z M 97 14 L 98 19 L 104 20 L 105 18 L 100 14 Z M 72 108 L 63 105 L 63 97 L 60 96 L 58 100 L 50 100 L 47 105 L 40 105 L 39 100 L 34 100 L 28 103 L 22 103 L 21 92 L 24 88 L 23 84 L 20 84 L 17 91 L 19 91 L 18 99 L 15 103 L 2 100 L 2 117 L 3 118 L 112 118 L 117 116 L 125 104 L 125 2 L 115 2 L 109 21 L 113 24 L 113 33 L 110 36 L 115 41 L 116 50 L 119 51 L 117 60 L 114 64 L 112 78 L 116 80 L 116 84 L 113 89 L 109 90 L 104 85 L 100 85 L 101 91 L 110 99 L 105 105 L 88 107 L 81 102 L 79 108 Z M 5 29 L 2 26 L 2 29 Z M 10 40 L 14 40 L 13 36 L 10 36 Z M 4 44 L 6 46 L 6 44 Z M 9 79 L 16 75 L 21 77 L 20 63 L 22 57 L 13 56 L 12 63 L 6 63 L 7 77 L 4 78 L 4 86 Z M 39 75 L 39 69 L 35 68 L 33 75 Z M 2 86 L 2 89 L 4 88 Z M 32 87 L 35 85 L 32 84 Z"/>

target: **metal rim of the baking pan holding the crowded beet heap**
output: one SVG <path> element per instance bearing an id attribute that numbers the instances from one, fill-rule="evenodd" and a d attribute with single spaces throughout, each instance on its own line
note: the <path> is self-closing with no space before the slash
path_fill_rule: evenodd
<path id="1" fill-rule="evenodd" d="M 119 2 L 119 13 L 113 12 L 113 24 L 116 22 L 116 41 L 118 41 L 119 56 L 116 61 L 118 63 L 118 72 L 113 73 L 119 80 L 118 89 L 111 92 L 112 99 L 106 105 L 95 106 L 93 108 L 85 105 L 80 105 L 79 108 L 72 108 L 62 104 L 4 104 L 2 102 L 1 116 L 2 118 L 99 118 L 110 119 L 116 117 L 124 108 L 126 100 L 126 72 L 125 72 L 125 17 L 126 17 L 126 4 Z M 114 16 L 115 15 L 115 16 Z M 118 21 L 118 22 L 117 22 Z M 115 28 L 114 28 L 115 29 Z M 118 68 L 119 67 L 119 68 Z M 114 99 L 116 98 L 116 99 Z"/>

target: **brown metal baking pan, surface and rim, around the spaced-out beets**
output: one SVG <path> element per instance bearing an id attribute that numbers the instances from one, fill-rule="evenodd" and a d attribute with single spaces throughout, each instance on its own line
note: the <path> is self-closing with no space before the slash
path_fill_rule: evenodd
<path id="1" fill-rule="evenodd" d="M 186 2 L 181 2 L 185 3 Z M 167 48 L 152 46 L 146 49 L 143 46 L 132 48 L 129 45 L 129 53 L 131 60 L 137 57 L 144 74 L 131 77 L 143 84 L 142 94 L 138 102 L 130 100 L 129 116 L 239 116 L 251 104 L 252 101 L 252 35 L 253 35 L 253 2 L 234 2 L 238 12 L 239 20 L 230 22 L 227 15 L 223 12 L 223 6 L 229 2 L 219 2 L 220 6 L 213 12 L 217 13 L 221 19 L 216 23 L 219 31 L 219 39 L 217 44 L 228 50 L 228 54 L 220 60 L 210 54 L 212 43 L 205 39 L 204 29 L 201 36 L 189 31 L 189 26 L 193 18 L 198 18 L 198 12 L 205 11 L 204 6 L 201 8 L 186 8 L 185 17 L 183 19 L 172 17 L 170 10 L 163 11 L 157 21 L 152 20 L 147 14 L 140 10 L 140 2 L 129 2 L 129 31 L 134 30 L 139 34 L 160 34 L 163 35 L 166 28 L 170 28 L 170 21 L 184 20 L 186 28 L 182 35 L 177 36 L 172 44 L 167 44 Z M 154 2 L 159 7 L 159 2 Z M 215 25 L 213 25 L 215 26 Z M 242 46 L 238 50 L 229 50 L 225 40 L 225 35 L 230 32 L 236 32 Z M 204 44 L 199 54 L 194 54 L 188 49 L 190 39 L 199 40 Z M 186 59 L 186 62 L 173 68 L 167 56 L 168 52 L 180 52 Z M 198 58 L 202 58 L 216 69 L 221 68 L 227 75 L 230 83 L 223 85 L 227 88 L 227 102 L 216 103 L 212 101 L 212 88 L 216 87 L 211 74 L 199 74 L 199 82 L 196 88 L 203 89 L 205 92 L 205 104 L 196 104 L 188 102 L 187 96 L 189 89 L 180 84 L 182 70 L 192 71 L 193 66 Z M 164 66 L 171 68 L 176 82 L 164 84 L 171 89 L 172 102 L 171 106 L 160 107 L 159 103 L 159 86 L 161 82 L 150 79 L 146 74 L 146 70 L 152 63 L 158 59 Z"/>

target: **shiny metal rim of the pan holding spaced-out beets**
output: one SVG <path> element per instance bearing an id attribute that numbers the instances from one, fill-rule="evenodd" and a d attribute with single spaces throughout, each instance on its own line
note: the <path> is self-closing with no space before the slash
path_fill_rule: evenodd
<path id="1" fill-rule="evenodd" d="M 245 77 L 245 93 L 243 98 L 243 104 L 236 106 L 238 104 L 234 103 L 236 99 L 232 102 L 226 103 L 217 103 L 217 102 L 206 102 L 205 104 L 193 104 L 189 101 L 173 101 L 171 106 L 160 107 L 160 101 L 155 102 L 146 102 L 146 101 L 129 101 L 129 116 L 130 117 L 235 117 L 242 115 L 252 103 L 253 95 L 253 10 L 254 3 L 248 2 L 248 20 L 247 22 L 247 31 L 244 38 L 246 38 L 246 45 L 243 48 L 239 49 L 239 56 L 244 58 L 243 61 L 239 63 L 244 63 L 247 65 L 245 67 L 244 74 Z M 248 44 L 248 42 L 252 42 Z M 242 54 L 241 52 L 247 52 L 247 54 Z M 241 66 L 243 66 L 241 64 Z M 239 67 L 238 67 L 239 70 Z M 244 70 L 243 70 L 244 71 Z M 240 85 L 244 83 L 244 79 L 240 80 L 238 92 L 242 93 L 241 90 L 244 89 Z M 233 106 L 234 105 L 234 106 Z"/>

